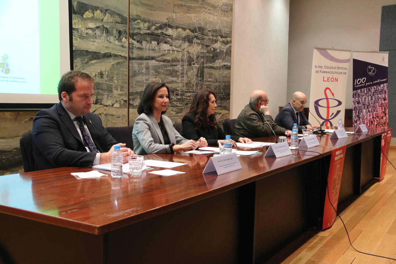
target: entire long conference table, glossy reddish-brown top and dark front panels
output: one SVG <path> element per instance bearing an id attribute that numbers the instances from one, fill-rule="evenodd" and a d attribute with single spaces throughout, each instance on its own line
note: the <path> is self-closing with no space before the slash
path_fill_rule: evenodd
<path id="1" fill-rule="evenodd" d="M 385 129 L 369 133 L 381 142 Z M 171 177 L 76 179 L 70 172 L 91 170 L 77 167 L 4 175 L 0 242 L 17 263 L 276 262 L 271 256 L 321 224 L 328 167 L 302 150 L 328 166 L 331 150 L 347 146 L 339 208 L 379 177 L 373 137 L 318 139 L 278 159 L 240 156 L 242 169 L 219 176 L 202 173 L 213 154 L 145 156 L 187 163 Z"/>

